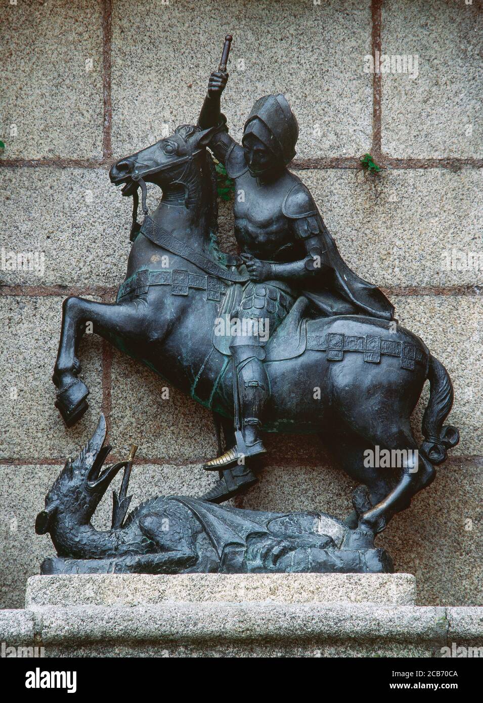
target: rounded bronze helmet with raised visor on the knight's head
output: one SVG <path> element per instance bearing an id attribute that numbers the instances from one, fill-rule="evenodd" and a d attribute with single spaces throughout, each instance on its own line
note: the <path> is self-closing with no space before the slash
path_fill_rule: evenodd
<path id="1" fill-rule="evenodd" d="M 295 156 L 299 125 L 282 93 L 259 98 L 245 122 L 243 136 L 253 134 L 285 165 Z"/>

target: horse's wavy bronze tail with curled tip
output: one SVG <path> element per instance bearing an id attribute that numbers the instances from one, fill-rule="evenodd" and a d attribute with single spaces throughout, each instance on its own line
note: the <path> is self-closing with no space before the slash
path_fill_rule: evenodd
<path id="1" fill-rule="evenodd" d="M 441 361 L 430 354 L 427 378 L 430 381 L 430 401 L 423 415 L 425 441 L 420 452 L 433 464 L 441 464 L 447 449 L 460 441 L 460 432 L 454 425 L 444 425 L 444 420 L 453 406 L 453 384 Z"/>

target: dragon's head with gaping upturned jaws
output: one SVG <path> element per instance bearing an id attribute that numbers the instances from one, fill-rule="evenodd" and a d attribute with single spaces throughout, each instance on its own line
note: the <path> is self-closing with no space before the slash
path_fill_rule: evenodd
<path id="1" fill-rule="evenodd" d="M 72 525 L 89 524 L 110 482 L 126 464 L 119 462 L 101 471 L 111 449 L 110 446 L 103 446 L 105 432 L 105 418 L 101 415 L 94 435 L 77 458 L 67 459 L 46 495 L 45 508 L 35 520 L 37 534 L 52 534 L 58 521 Z"/>

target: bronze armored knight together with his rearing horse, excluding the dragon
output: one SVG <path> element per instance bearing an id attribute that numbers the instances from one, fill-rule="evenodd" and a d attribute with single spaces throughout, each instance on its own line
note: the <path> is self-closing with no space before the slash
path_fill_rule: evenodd
<path id="1" fill-rule="evenodd" d="M 56 406 L 67 425 L 86 410 L 89 390 L 77 378 L 75 349 L 90 322 L 214 412 L 226 451 L 205 465 L 220 477 L 205 501 L 226 501 L 257 480 L 262 430 L 311 432 L 361 484 L 347 525 L 375 534 L 430 484 L 434 465 L 458 442 L 456 427 L 443 425 L 451 380 L 424 342 L 393 319 L 382 292 L 344 264 L 309 191 L 288 171 L 297 122 L 285 98 L 255 103 L 243 146 L 228 136 L 219 109 L 228 46 L 227 38 L 199 124 L 178 127 L 110 170 L 134 202 L 127 273 L 115 303 L 65 300 Z M 219 250 L 207 146 L 236 183 L 243 264 Z M 153 214 L 146 183 L 162 189 Z M 222 330 L 219 321 L 227 323 Z M 240 323 L 234 333 L 233 322 Z M 409 418 L 426 379 L 430 401 L 418 447 Z M 366 451 L 379 447 L 408 456 L 389 468 L 368 464 Z"/>

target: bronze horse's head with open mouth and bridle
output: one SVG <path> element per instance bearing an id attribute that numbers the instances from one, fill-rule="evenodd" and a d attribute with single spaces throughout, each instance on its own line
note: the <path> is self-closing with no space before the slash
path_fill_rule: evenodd
<path id="1" fill-rule="evenodd" d="M 171 183 L 184 183 L 191 167 L 204 157 L 212 133 L 213 129 L 182 124 L 174 134 L 115 163 L 110 180 L 115 186 L 124 183 L 122 195 L 133 195 L 141 179 L 163 189 Z"/>

